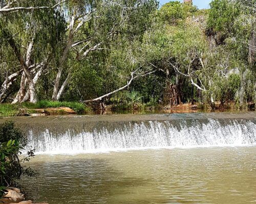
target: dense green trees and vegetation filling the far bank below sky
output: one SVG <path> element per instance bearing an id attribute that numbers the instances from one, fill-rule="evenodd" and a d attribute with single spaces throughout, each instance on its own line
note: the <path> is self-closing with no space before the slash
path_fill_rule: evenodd
<path id="1" fill-rule="evenodd" d="M 256 101 L 255 4 L 1 0 L 0 103 L 247 107 Z"/>

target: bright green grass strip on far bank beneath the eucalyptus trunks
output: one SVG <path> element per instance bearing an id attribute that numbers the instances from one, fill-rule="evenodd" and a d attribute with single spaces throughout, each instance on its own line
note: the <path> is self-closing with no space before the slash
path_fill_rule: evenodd
<path id="1" fill-rule="evenodd" d="M 22 114 L 23 109 L 45 109 L 45 108 L 60 108 L 68 107 L 73 109 L 78 114 L 89 113 L 91 109 L 79 102 L 70 102 L 70 101 L 50 101 L 50 100 L 40 100 L 35 104 L 32 103 L 23 103 L 18 105 L 12 104 L 0 104 L 0 116 L 10 117 L 17 116 Z M 31 113 L 31 110 L 28 110 Z"/>

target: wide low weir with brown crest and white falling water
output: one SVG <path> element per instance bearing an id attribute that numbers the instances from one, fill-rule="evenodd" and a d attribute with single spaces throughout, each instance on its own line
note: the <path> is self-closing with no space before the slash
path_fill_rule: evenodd
<path id="1" fill-rule="evenodd" d="M 8 118 L 42 154 L 256 144 L 255 113 Z M 4 118 L 0 120 L 3 122 Z"/>

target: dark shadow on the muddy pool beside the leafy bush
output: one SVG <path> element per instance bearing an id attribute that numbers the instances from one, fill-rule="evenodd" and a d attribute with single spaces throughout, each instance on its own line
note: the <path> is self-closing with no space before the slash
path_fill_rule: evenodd
<path id="1" fill-rule="evenodd" d="M 105 159 L 72 158 L 56 161 L 49 157 L 48 161 L 44 161 L 30 165 L 40 173 L 37 178 L 25 178 L 25 190 L 30 192 L 30 196 L 33 195 L 31 198 L 37 202 L 111 203 L 111 196 L 123 195 L 123 189 L 145 186 L 150 181 L 124 176 L 121 171 L 112 167 L 113 163 L 111 165 L 111 162 Z M 66 202 L 67 197 L 74 202 Z M 123 200 L 121 203 L 133 202 Z"/>

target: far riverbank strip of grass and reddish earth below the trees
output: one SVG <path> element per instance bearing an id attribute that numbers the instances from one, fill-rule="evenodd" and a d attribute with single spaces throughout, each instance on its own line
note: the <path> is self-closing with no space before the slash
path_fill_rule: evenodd
<path id="1" fill-rule="evenodd" d="M 79 102 L 67 101 L 47 101 L 42 100 L 36 104 L 0 104 L 0 116 L 44 116 L 44 115 L 106 115 L 106 114 L 154 114 L 154 113 L 207 113 L 207 112 L 237 112 L 237 111 L 255 111 L 255 104 L 248 104 L 242 109 L 234 101 L 222 105 L 220 102 L 215 103 L 213 110 L 206 104 L 182 104 L 175 107 L 163 105 L 146 106 L 138 104 L 137 106 L 119 106 L 115 104 L 103 105 L 86 105 Z"/>

